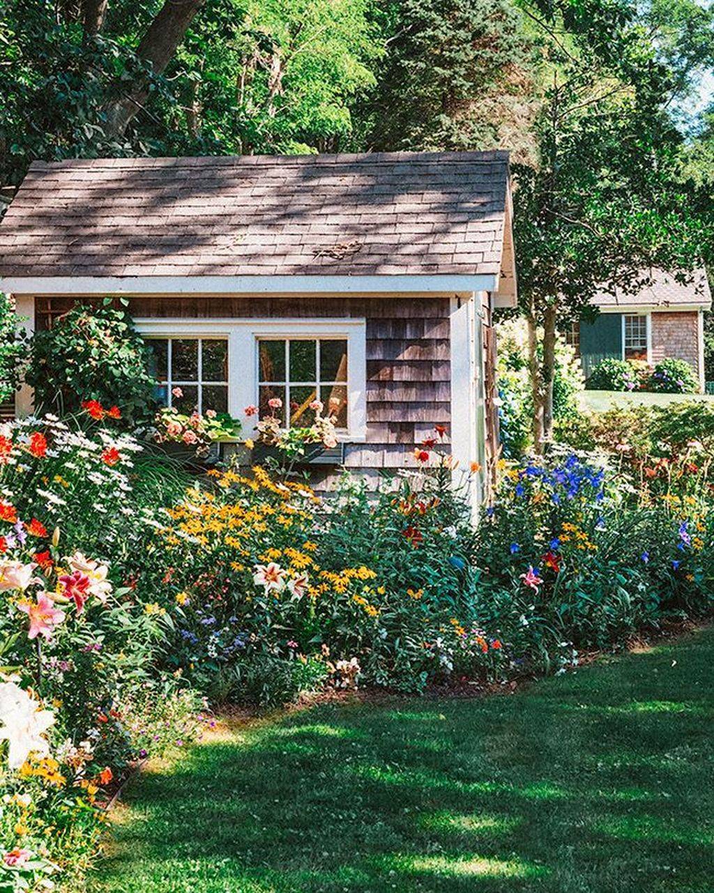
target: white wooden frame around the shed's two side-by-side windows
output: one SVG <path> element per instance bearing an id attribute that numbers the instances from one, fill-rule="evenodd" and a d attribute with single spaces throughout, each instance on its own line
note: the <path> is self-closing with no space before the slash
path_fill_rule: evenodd
<path id="1" fill-rule="evenodd" d="M 258 405 L 258 345 L 260 338 L 344 338 L 347 341 L 348 427 L 338 438 L 366 438 L 366 322 L 364 318 L 335 319 L 171 319 L 134 320 L 147 338 L 228 338 L 228 412 L 249 438 L 255 416 L 247 406 Z"/>

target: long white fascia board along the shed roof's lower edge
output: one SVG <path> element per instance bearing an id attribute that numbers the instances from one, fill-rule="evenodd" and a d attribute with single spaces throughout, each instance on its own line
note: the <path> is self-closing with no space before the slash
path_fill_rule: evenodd
<path id="1" fill-rule="evenodd" d="M 495 291 L 496 276 L 6 276 L 10 295 L 414 295 Z"/>

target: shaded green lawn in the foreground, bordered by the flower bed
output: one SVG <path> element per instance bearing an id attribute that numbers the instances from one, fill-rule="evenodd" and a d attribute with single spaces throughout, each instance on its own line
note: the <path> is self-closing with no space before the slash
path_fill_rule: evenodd
<path id="1" fill-rule="evenodd" d="M 714 889 L 714 632 L 485 700 L 319 705 L 127 792 L 92 891 Z"/>

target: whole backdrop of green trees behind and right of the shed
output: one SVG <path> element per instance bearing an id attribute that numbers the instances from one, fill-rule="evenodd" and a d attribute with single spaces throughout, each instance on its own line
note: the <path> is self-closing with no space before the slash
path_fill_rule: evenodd
<path id="1" fill-rule="evenodd" d="M 712 70 L 710 0 L 5 0 L 0 188 L 38 158 L 508 148 L 540 442 L 556 326 L 711 263 Z"/>

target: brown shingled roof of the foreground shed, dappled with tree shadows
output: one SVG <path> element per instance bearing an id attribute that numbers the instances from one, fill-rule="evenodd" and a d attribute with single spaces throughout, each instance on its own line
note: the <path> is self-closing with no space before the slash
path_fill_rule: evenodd
<path id="1" fill-rule="evenodd" d="M 507 215 L 506 152 L 36 162 L 0 276 L 498 276 Z"/>

